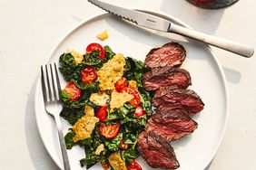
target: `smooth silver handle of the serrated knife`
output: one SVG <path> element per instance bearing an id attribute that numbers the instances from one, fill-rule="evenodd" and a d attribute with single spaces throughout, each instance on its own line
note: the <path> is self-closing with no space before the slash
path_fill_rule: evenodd
<path id="1" fill-rule="evenodd" d="M 194 40 L 206 42 L 215 47 L 219 47 L 223 50 L 233 52 L 247 58 L 250 58 L 254 52 L 253 48 L 249 45 L 242 44 L 240 42 L 232 42 L 230 40 L 222 39 L 206 33 L 200 33 L 192 29 L 182 27 L 177 24 L 172 24 L 168 32 L 177 33 L 177 34 L 192 38 Z"/>

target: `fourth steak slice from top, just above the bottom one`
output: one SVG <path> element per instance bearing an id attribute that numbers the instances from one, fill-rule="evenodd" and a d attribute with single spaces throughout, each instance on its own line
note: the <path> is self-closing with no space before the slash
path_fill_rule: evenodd
<path id="1" fill-rule="evenodd" d="M 196 128 L 197 123 L 184 109 L 157 110 L 146 125 L 146 131 L 153 131 L 167 141 L 174 141 L 191 134 Z"/>

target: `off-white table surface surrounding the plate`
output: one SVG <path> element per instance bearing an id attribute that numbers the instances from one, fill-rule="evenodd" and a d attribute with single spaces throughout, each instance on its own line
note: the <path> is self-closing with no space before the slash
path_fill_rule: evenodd
<path id="1" fill-rule="evenodd" d="M 256 47 L 256 1 L 205 10 L 184 0 L 109 0 L 173 15 L 193 28 Z M 54 46 L 74 25 L 102 12 L 86 0 L 0 0 L 0 169 L 58 169 L 34 118 L 34 81 Z M 256 58 L 213 49 L 228 81 L 230 118 L 210 170 L 256 167 Z"/>

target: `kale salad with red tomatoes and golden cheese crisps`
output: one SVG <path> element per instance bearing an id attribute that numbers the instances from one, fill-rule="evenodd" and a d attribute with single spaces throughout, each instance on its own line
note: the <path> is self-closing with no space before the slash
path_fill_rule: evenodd
<path id="1" fill-rule="evenodd" d="M 87 169 L 98 162 L 103 169 L 142 169 L 134 161 L 136 142 L 153 113 L 153 94 L 143 89 L 143 62 L 91 43 L 84 54 L 63 53 L 59 63 L 67 81 L 61 116 L 72 126 L 66 147 L 84 149 L 80 164 Z"/>

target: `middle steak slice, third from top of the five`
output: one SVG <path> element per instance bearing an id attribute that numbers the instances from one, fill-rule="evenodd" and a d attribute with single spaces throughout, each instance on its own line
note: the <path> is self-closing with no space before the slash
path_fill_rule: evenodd
<path id="1" fill-rule="evenodd" d="M 204 104 L 193 90 L 179 89 L 177 86 L 157 90 L 153 97 L 153 106 L 161 110 L 186 109 L 189 115 L 200 112 Z"/>

